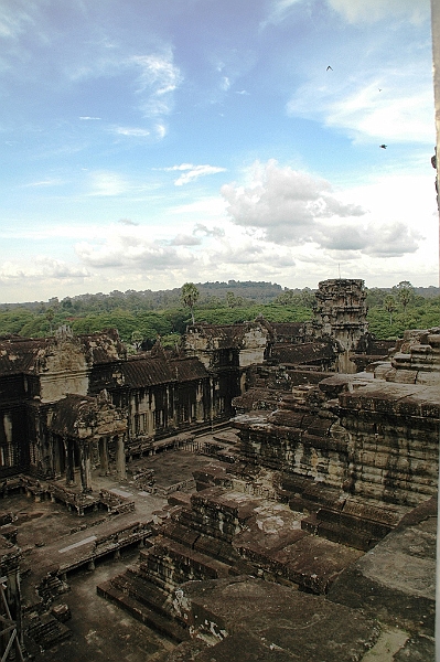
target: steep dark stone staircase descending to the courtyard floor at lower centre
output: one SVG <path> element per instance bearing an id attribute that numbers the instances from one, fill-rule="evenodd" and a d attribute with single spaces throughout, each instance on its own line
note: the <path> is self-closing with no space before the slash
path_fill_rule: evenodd
<path id="1" fill-rule="evenodd" d="M 226 578 L 254 569 L 230 545 L 233 509 L 225 509 L 218 525 L 218 509 L 215 511 L 206 496 L 196 494 L 191 501 L 191 509 L 183 506 L 157 527 L 155 538 L 150 547 L 140 551 L 136 565 L 97 587 L 98 595 L 178 642 L 190 639 L 186 623 L 173 609 L 179 585 Z M 210 505 L 214 509 L 212 522 L 206 516 L 203 522 L 201 511 L 205 506 L 208 510 Z"/>

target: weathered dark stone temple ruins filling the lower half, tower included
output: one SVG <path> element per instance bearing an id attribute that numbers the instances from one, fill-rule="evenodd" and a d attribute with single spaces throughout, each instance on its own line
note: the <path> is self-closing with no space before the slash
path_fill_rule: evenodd
<path id="1" fill-rule="evenodd" d="M 440 328 L 366 312 L 0 339 L 1 659 L 433 659 Z"/>

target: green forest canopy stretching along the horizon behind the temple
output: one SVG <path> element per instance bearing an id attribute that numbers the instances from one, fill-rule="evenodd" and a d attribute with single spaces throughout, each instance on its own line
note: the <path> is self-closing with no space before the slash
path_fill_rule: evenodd
<path id="1" fill-rule="evenodd" d="M 254 320 L 305 321 L 312 318 L 314 291 L 289 289 L 271 282 L 235 281 L 196 284 L 195 321 L 217 324 Z M 41 338 L 62 324 L 75 333 L 93 333 L 116 328 L 131 343 L 141 335 L 152 343 L 158 335 L 174 344 L 191 323 L 191 312 L 182 303 L 182 288 L 172 290 L 79 295 L 29 303 L 0 305 L 0 335 Z M 394 288 L 367 289 L 369 331 L 378 339 L 395 339 L 405 329 L 429 329 L 440 324 L 439 289 L 415 288 L 401 281 Z"/>

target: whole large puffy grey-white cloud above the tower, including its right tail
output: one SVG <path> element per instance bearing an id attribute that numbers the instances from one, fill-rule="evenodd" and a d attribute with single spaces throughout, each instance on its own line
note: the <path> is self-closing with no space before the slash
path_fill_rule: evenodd
<path id="1" fill-rule="evenodd" d="M 344 259 L 416 253 L 421 234 L 403 221 L 380 223 L 362 206 L 341 202 L 328 181 L 269 161 L 247 188 L 227 184 L 227 212 L 255 245 L 314 246 Z M 255 253 L 255 249 L 254 249 Z"/>

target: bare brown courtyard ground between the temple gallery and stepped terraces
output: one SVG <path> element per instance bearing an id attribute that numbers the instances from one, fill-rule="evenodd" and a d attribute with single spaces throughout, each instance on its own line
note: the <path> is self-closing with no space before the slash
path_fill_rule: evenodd
<path id="1" fill-rule="evenodd" d="M 207 441 L 212 440 L 206 436 Z M 159 495 L 148 494 L 138 489 L 132 479 L 133 471 L 153 469 L 157 485 L 167 488 L 192 478 L 194 469 L 212 463 L 210 457 L 185 450 L 171 450 L 130 462 L 127 468 L 127 479 L 118 481 L 116 476 L 100 477 L 98 471 L 93 473 L 94 492 L 100 489 L 112 490 L 116 493 L 135 501 L 133 513 L 116 515 L 111 523 L 126 522 L 136 519 L 147 522 L 155 511 L 161 511 L 167 500 Z M 98 534 L 103 513 L 86 513 L 79 516 L 60 503 L 51 501 L 35 502 L 24 494 L 11 494 L 0 502 L 0 511 L 12 513 L 18 527 L 17 544 L 23 553 L 22 595 L 32 601 L 34 586 L 39 577 L 44 575 L 60 558 L 60 552 L 74 537 L 86 538 Z M 77 533 L 73 534 L 75 530 Z M 72 612 L 72 619 L 66 626 L 72 637 L 44 652 L 37 648 L 32 650 L 35 662 L 161 662 L 174 644 L 141 624 L 131 616 L 99 597 L 96 586 L 110 577 L 118 575 L 135 563 L 139 552 L 128 549 L 119 559 L 107 558 L 96 564 L 95 570 L 82 568 L 69 574 L 67 584 L 69 590 L 58 596 L 57 602 L 66 604 Z"/>

